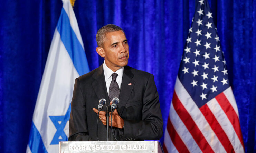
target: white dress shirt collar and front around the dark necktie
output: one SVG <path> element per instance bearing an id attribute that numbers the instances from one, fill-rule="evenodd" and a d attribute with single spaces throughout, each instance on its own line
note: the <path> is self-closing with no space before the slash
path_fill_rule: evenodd
<path id="1" fill-rule="evenodd" d="M 118 69 L 116 72 L 112 71 L 110 68 L 107 67 L 105 64 L 105 61 L 103 63 L 103 71 L 104 71 L 104 76 L 105 76 L 105 81 L 106 81 L 106 86 L 107 86 L 107 94 L 109 94 L 109 86 L 112 81 L 112 74 L 116 73 L 118 74 L 116 76 L 116 82 L 119 86 L 119 90 L 121 90 L 121 84 L 122 84 L 122 78 L 123 78 L 123 72 L 124 72 L 124 67 Z"/>

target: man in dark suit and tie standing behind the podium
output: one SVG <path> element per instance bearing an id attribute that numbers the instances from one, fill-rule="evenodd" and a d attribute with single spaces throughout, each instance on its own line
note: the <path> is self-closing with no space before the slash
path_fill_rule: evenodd
<path id="1" fill-rule="evenodd" d="M 100 99 L 111 104 L 112 96 L 120 102 L 112 114 L 118 140 L 158 140 L 163 134 L 163 120 L 154 76 L 127 66 L 129 47 L 124 31 L 106 25 L 96 35 L 97 53 L 105 59 L 97 69 L 76 78 L 69 120 L 68 141 L 96 141 L 97 113 Z M 120 91 L 119 91 L 120 90 Z M 99 112 L 99 140 L 106 138 L 105 111 Z M 111 129 L 110 129 L 111 131 Z M 113 135 L 110 133 L 110 140 Z"/>

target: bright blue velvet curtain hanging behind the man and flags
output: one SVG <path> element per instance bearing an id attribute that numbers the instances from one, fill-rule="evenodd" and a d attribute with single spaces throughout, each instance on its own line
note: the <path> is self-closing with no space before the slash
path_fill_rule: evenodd
<path id="1" fill-rule="evenodd" d="M 209 0 L 237 101 L 246 152 L 256 152 L 256 1 Z M 95 36 L 117 24 L 129 42 L 129 65 L 154 74 L 168 118 L 195 0 L 76 0 L 74 11 L 90 70 L 102 64 Z M 0 152 L 25 152 L 32 114 L 61 0 L 0 5 Z M 161 139 L 161 141 L 163 138 Z"/>

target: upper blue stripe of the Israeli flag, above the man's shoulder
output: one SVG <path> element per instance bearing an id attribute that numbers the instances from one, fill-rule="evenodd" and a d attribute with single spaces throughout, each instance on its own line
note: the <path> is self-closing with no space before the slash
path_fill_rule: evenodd
<path id="1" fill-rule="evenodd" d="M 79 75 L 89 72 L 89 66 L 82 45 L 73 31 L 64 8 L 61 10 L 57 29 Z"/>

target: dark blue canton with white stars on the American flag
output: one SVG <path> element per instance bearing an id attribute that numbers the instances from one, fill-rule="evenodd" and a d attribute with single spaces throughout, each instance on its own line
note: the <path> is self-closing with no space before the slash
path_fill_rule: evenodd
<path id="1" fill-rule="evenodd" d="M 207 1 L 199 0 L 178 77 L 200 108 L 229 87 L 224 53 Z"/>

